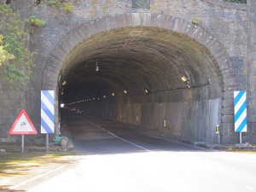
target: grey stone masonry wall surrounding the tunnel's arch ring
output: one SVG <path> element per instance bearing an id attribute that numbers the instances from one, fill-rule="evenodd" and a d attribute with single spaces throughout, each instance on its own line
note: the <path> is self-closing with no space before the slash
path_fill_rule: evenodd
<path id="1" fill-rule="evenodd" d="M 22 10 L 24 19 L 29 15 L 37 15 L 47 22 L 45 26 L 31 28 L 30 45 L 37 67 L 34 68 L 31 82 L 27 86 L 26 96 L 20 99 L 23 101 L 26 98 L 26 111 L 36 127 L 39 127 L 40 123 L 38 113 L 42 74 L 50 53 L 61 39 L 79 24 L 108 15 L 148 12 L 172 15 L 187 21 L 199 20 L 199 25 L 211 32 L 230 55 L 236 70 L 234 75 L 238 82 L 237 88 L 247 90 L 247 6 L 244 4 L 224 3 L 221 0 L 151 0 L 150 9 L 134 9 L 131 0 L 70 0 L 74 8 L 71 13 L 66 13 L 58 7 L 49 6 L 47 1 L 41 1 L 40 4 L 36 4 L 34 0 L 12 2 L 15 2 L 12 3 L 14 9 Z M 0 103 L 3 101 L 9 104 L 12 102 L 9 98 L 3 100 L 0 97 Z M 228 110 L 233 110 L 232 105 L 232 102 L 224 103 L 224 107 Z M 2 115 L 2 110 L 0 113 L 3 117 L 0 120 L 3 134 L 9 130 L 13 119 L 4 118 L 5 114 Z M 10 115 L 17 114 L 8 112 L 5 116 Z M 227 119 L 231 121 L 232 117 Z"/>

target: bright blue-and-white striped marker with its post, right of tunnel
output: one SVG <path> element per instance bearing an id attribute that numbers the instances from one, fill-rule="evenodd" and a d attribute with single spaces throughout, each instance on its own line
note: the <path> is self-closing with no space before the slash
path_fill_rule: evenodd
<path id="1" fill-rule="evenodd" d="M 235 132 L 247 131 L 247 94 L 245 90 L 234 91 Z"/>

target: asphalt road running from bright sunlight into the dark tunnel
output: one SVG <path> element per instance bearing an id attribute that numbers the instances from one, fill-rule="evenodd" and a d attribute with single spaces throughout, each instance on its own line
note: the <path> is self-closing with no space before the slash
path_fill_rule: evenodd
<path id="1" fill-rule="evenodd" d="M 129 125 L 69 117 L 76 163 L 28 191 L 256 191 L 256 154 L 203 150 Z"/>

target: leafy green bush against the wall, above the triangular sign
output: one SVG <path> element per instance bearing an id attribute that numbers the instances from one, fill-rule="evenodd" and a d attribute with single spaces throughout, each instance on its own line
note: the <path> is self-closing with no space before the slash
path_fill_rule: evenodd
<path id="1" fill-rule="evenodd" d="M 13 90 L 19 90 L 32 73 L 31 52 L 26 49 L 25 20 L 9 5 L 0 5 L 0 78 L 6 79 Z"/>

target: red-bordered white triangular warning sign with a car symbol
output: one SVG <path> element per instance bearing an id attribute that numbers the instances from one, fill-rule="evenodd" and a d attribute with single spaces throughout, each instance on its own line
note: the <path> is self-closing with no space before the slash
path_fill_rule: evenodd
<path id="1" fill-rule="evenodd" d="M 38 131 L 32 125 L 31 119 L 28 117 L 25 109 L 20 111 L 14 125 L 9 130 L 9 135 L 35 135 Z"/>

